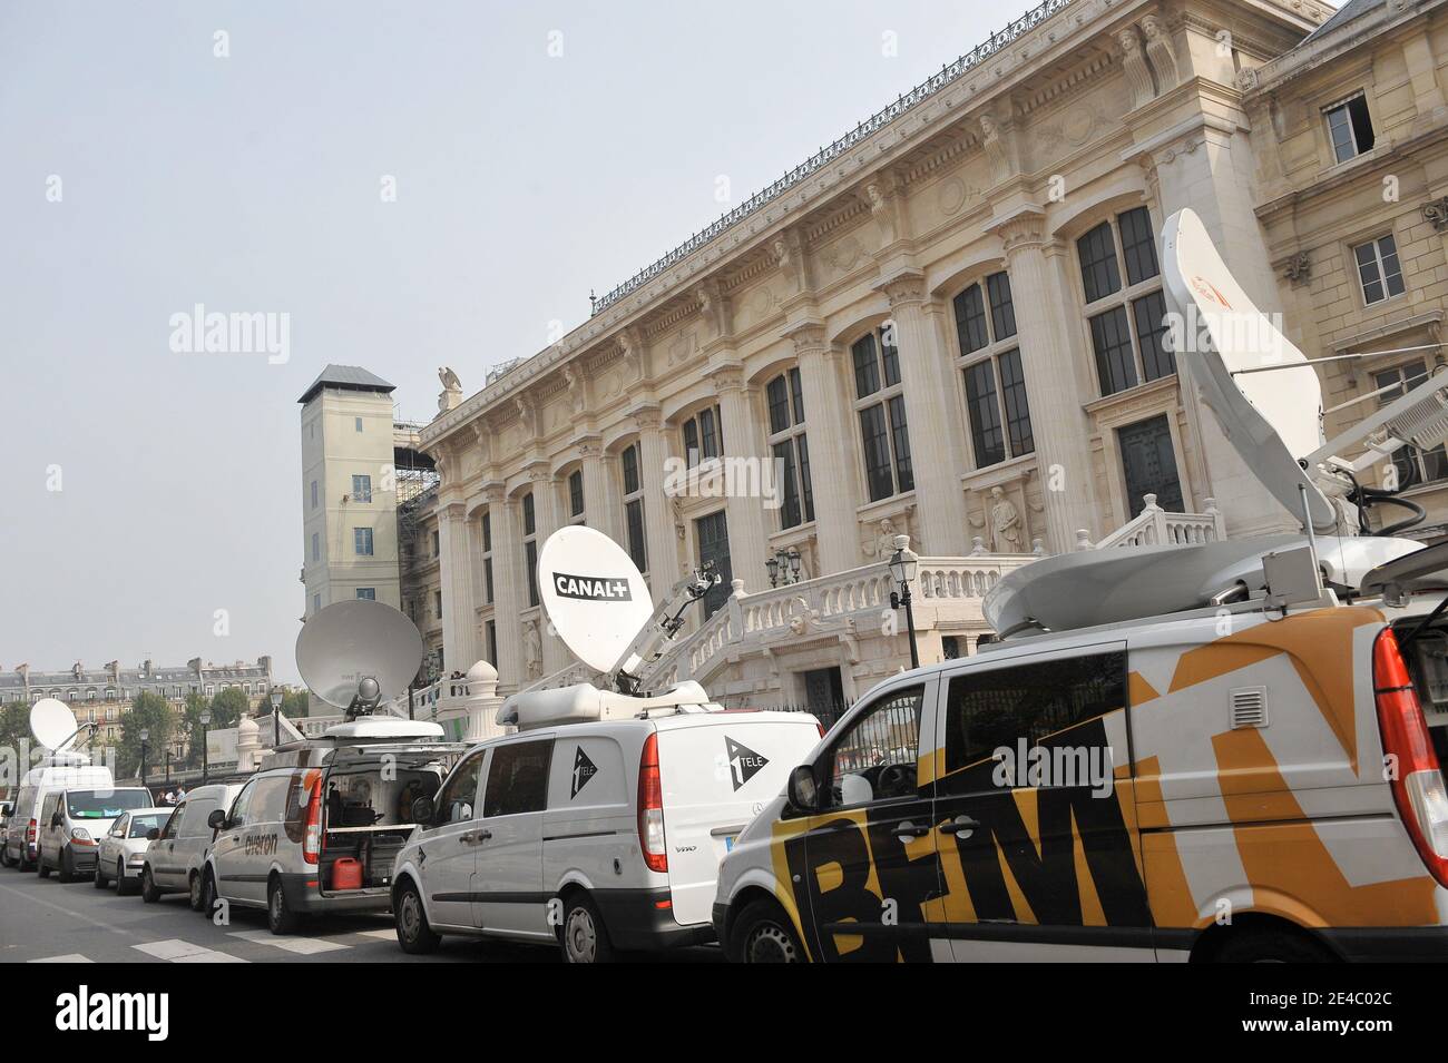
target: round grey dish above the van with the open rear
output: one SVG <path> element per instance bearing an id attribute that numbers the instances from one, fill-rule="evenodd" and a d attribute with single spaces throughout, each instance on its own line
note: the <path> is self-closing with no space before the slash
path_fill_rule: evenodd
<path id="1" fill-rule="evenodd" d="M 423 636 L 407 616 L 385 602 L 333 602 L 297 635 L 297 671 L 327 704 L 346 709 L 358 684 L 376 680 L 379 700 L 407 690 L 423 659 Z"/>

